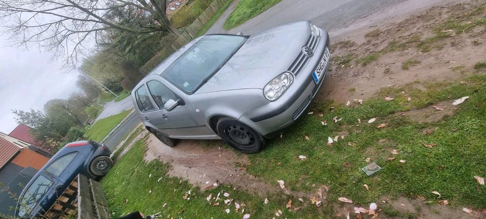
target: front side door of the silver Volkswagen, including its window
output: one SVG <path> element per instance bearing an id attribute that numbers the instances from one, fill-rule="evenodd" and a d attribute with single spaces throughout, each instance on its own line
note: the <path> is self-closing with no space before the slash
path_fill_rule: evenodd
<path id="1" fill-rule="evenodd" d="M 168 134 L 171 137 L 184 138 L 205 138 L 207 135 L 214 134 L 204 124 L 198 124 L 195 119 L 195 111 L 192 109 L 182 94 L 176 94 L 161 81 L 151 80 L 147 82 L 148 92 L 153 102 L 155 103 L 156 113 L 160 119 L 156 123 L 152 123 L 158 129 Z M 172 111 L 167 111 L 164 104 L 173 99 L 179 102 Z"/>

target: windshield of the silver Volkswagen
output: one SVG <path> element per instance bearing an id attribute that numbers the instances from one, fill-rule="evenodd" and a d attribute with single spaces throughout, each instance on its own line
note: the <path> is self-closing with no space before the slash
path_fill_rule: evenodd
<path id="1" fill-rule="evenodd" d="M 194 93 L 247 40 L 238 35 L 206 35 L 187 49 L 161 76 L 186 93 Z"/>

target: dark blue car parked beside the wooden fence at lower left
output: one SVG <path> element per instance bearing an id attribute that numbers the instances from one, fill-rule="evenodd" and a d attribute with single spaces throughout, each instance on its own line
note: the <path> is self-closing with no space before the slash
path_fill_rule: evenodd
<path id="1" fill-rule="evenodd" d="M 110 154 L 108 148 L 94 141 L 66 144 L 25 186 L 15 215 L 20 218 L 41 216 L 79 173 L 93 179 L 105 175 L 113 166 Z"/>

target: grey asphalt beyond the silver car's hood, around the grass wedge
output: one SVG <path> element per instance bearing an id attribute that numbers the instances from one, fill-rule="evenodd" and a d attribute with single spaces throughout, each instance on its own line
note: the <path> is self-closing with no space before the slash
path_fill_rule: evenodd
<path id="1" fill-rule="evenodd" d="M 229 31 L 223 29 L 223 23 L 231 13 L 236 0 L 221 18 L 208 30 L 210 33 L 253 34 L 267 28 L 299 20 L 310 20 L 318 27 L 328 31 L 345 27 L 353 21 L 381 10 L 406 2 L 406 0 L 282 0 L 272 8 L 250 21 Z"/>

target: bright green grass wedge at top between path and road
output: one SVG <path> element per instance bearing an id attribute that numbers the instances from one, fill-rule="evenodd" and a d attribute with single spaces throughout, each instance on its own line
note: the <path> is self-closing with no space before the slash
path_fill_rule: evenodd
<path id="1" fill-rule="evenodd" d="M 241 0 L 224 23 L 225 29 L 235 28 L 271 8 L 281 0 Z"/>

